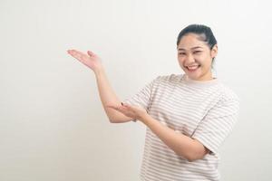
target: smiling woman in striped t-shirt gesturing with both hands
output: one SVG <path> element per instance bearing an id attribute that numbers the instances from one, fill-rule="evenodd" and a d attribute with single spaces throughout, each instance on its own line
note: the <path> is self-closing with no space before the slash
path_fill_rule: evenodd
<path id="1" fill-rule="evenodd" d="M 184 28 L 177 51 L 185 73 L 158 76 L 122 102 L 96 54 L 68 53 L 94 71 L 112 123 L 140 120 L 146 125 L 141 180 L 219 180 L 219 146 L 237 120 L 238 96 L 212 76 L 218 44 L 208 26 Z"/>

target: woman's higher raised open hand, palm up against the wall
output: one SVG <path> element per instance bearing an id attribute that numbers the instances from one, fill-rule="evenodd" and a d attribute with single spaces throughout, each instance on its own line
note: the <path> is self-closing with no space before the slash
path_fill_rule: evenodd
<path id="1" fill-rule="evenodd" d="M 91 51 L 84 53 L 77 50 L 68 50 L 67 52 L 87 67 L 91 68 L 94 72 L 102 68 L 100 57 Z"/>

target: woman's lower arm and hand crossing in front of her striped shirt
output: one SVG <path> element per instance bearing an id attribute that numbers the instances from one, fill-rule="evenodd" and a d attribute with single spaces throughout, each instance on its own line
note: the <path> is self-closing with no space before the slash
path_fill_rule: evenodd
<path id="1" fill-rule="evenodd" d="M 109 105 L 109 107 L 114 110 L 119 110 L 126 116 L 140 120 L 180 157 L 194 161 L 209 153 L 209 149 L 205 148 L 197 139 L 189 138 L 161 124 L 159 120 L 153 119 L 151 115 L 142 108 L 127 104 L 121 106 Z"/>

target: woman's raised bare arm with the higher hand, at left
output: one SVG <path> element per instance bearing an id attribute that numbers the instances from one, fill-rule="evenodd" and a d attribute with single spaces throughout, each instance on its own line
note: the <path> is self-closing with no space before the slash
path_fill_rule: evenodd
<path id="1" fill-rule="evenodd" d="M 94 72 L 102 106 L 110 121 L 112 123 L 121 123 L 132 120 L 130 117 L 121 114 L 121 112 L 108 107 L 108 105 L 121 105 L 121 101 L 116 96 L 114 90 L 112 90 L 100 58 L 91 51 L 88 51 L 87 54 L 76 50 L 67 52 Z"/>

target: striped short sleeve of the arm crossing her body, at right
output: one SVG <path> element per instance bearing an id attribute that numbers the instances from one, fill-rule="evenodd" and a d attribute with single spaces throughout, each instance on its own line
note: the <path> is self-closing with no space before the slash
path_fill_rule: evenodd
<path id="1" fill-rule="evenodd" d="M 220 101 L 201 120 L 192 138 L 199 140 L 211 152 L 218 153 L 219 146 L 228 137 L 238 119 L 238 110 L 238 98 Z"/>

